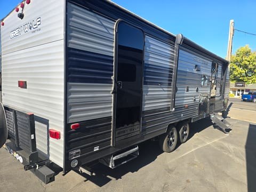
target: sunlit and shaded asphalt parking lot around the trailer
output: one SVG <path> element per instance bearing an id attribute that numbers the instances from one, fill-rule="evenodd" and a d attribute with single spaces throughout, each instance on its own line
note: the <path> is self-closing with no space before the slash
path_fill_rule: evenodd
<path id="1" fill-rule="evenodd" d="M 256 191 L 255 117 L 241 121 L 256 110 L 239 109 L 236 102 L 229 104 L 233 131 L 228 135 L 203 119 L 191 124 L 189 140 L 173 153 L 147 141 L 139 146 L 138 158 L 115 170 L 99 164 L 92 177 L 60 172 L 45 185 L 1 148 L 0 191 Z"/>

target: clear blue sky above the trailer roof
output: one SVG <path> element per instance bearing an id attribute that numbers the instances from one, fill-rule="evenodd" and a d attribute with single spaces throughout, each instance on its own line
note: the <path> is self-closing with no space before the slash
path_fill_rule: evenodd
<path id="1" fill-rule="evenodd" d="M 20 0 L 0 0 L 0 18 L 4 18 L 20 2 Z M 231 19 L 235 21 L 235 29 L 256 34 L 255 0 L 113 0 L 113 2 L 174 35 L 183 34 L 223 58 L 227 54 Z M 233 53 L 246 44 L 250 45 L 252 51 L 256 51 L 256 36 L 235 31 Z"/>

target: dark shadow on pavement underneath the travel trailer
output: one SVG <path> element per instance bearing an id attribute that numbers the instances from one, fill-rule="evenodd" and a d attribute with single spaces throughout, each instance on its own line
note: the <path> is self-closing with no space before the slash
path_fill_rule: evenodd
<path id="1" fill-rule="evenodd" d="M 190 124 L 190 133 L 189 138 L 192 138 L 194 134 L 203 131 L 207 127 L 211 126 L 212 122 L 210 118 L 201 119 L 195 123 Z M 177 148 L 179 145 L 177 146 Z M 85 173 L 81 174 L 85 179 L 85 181 L 91 181 L 95 185 L 102 187 L 106 185 L 109 181 L 113 180 L 113 178 L 122 179 L 123 175 L 129 172 L 137 172 L 142 167 L 152 163 L 155 161 L 158 155 L 164 153 L 158 146 L 158 141 L 148 140 L 139 144 L 140 155 L 133 159 L 132 161 L 117 167 L 116 169 L 110 169 L 106 165 L 102 165 L 100 163 L 92 166 L 92 170 L 95 175 L 87 175 Z M 78 173 L 78 172 L 77 172 Z"/>

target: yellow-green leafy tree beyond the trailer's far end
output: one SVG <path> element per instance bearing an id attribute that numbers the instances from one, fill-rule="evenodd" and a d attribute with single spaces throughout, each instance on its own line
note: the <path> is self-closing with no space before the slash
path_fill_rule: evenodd
<path id="1" fill-rule="evenodd" d="M 256 83 L 256 52 L 249 45 L 237 49 L 230 59 L 230 81 Z"/>

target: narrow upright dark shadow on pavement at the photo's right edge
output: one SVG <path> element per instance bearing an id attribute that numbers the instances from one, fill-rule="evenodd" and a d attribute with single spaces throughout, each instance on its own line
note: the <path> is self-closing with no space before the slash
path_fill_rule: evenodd
<path id="1" fill-rule="evenodd" d="M 250 124 L 245 145 L 247 188 L 256 191 L 256 125 Z"/>

